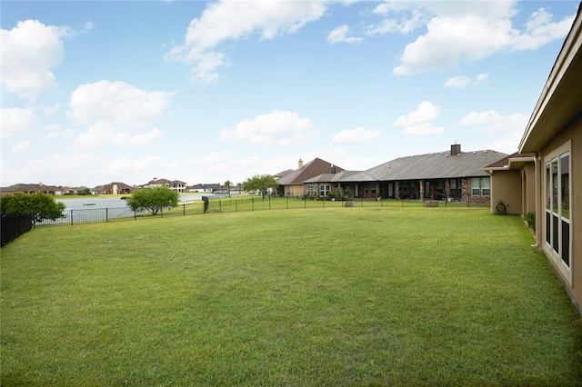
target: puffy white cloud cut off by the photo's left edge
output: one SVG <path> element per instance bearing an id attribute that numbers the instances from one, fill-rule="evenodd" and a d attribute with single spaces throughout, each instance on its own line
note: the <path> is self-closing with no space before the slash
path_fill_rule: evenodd
<path id="1" fill-rule="evenodd" d="M 65 30 L 25 20 L 11 30 L 0 30 L 2 85 L 11 93 L 35 100 L 55 87 L 51 69 L 60 65 L 65 55 L 62 37 Z"/>

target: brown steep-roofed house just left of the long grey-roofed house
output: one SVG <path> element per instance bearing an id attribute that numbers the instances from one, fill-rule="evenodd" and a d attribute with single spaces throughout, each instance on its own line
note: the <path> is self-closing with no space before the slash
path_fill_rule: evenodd
<path id="1" fill-rule="evenodd" d="M 306 193 L 304 182 L 320 174 L 337 174 L 343 171 L 345 171 L 344 168 L 320 158 L 316 158 L 307 164 L 303 164 L 303 161 L 299 160 L 295 171 L 283 174 L 276 180 L 279 184 L 277 193 L 279 196 L 299 197 Z"/>

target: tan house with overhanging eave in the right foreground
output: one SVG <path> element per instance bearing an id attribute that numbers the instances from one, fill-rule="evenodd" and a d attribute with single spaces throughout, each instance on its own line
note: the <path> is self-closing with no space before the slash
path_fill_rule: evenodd
<path id="1" fill-rule="evenodd" d="M 534 154 L 536 242 L 582 313 L 582 4 L 519 144 Z M 496 173 L 494 172 L 494 175 Z M 496 185 L 497 189 L 497 185 Z M 497 194 L 497 193 L 496 193 Z"/>

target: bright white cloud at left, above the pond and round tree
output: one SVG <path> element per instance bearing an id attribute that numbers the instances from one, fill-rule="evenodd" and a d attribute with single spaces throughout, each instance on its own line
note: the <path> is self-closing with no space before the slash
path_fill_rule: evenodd
<path id="1" fill-rule="evenodd" d="M 138 128 L 166 111 L 173 93 L 146 92 L 125 82 L 107 80 L 81 84 L 71 95 L 69 115 L 78 124 Z"/>

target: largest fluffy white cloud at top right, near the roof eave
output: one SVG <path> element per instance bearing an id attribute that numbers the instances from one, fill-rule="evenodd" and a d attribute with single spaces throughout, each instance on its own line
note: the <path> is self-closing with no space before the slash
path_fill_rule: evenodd
<path id="1" fill-rule="evenodd" d="M 382 9 L 388 9 L 386 15 L 391 17 L 368 31 L 368 34 L 406 33 L 426 21 L 426 34 L 406 45 L 400 57 L 402 64 L 394 68 L 393 74 L 398 75 L 450 70 L 459 63 L 475 62 L 502 50 L 536 49 L 567 35 L 574 18 L 572 15 L 554 22 L 552 15 L 541 8 L 520 31 L 511 22 L 511 17 L 517 14 L 514 2 L 426 2 L 423 8 L 410 5 L 414 7 L 412 14 L 403 9 L 405 5 L 384 6 Z M 422 15 L 408 17 L 411 26 L 404 28 L 398 19 L 403 13 Z"/>

